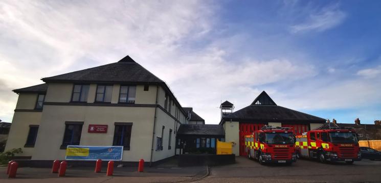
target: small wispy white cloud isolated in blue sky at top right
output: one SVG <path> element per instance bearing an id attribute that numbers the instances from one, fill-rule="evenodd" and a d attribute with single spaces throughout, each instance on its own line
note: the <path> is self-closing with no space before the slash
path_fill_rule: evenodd
<path id="1" fill-rule="evenodd" d="M 346 14 L 339 9 L 338 4 L 324 7 L 320 11 L 313 11 L 308 18 L 300 24 L 290 27 L 292 33 L 317 31 L 322 32 L 341 24 L 346 18 Z"/>

